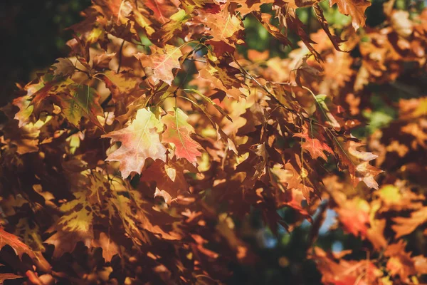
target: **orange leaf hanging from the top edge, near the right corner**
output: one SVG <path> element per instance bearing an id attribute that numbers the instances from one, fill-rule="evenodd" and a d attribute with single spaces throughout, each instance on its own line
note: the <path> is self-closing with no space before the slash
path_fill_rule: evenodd
<path id="1" fill-rule="evenodd" d="M 371 2 L 367 0 L 330 0 L 330 6 L 337 4 L 338 11 L 346 16 L 352 16 L 352 25 L 357 31 L 359 27 L 363 27 L 366 21 L 364 16 L 365 10 L 371 6 Z"/>

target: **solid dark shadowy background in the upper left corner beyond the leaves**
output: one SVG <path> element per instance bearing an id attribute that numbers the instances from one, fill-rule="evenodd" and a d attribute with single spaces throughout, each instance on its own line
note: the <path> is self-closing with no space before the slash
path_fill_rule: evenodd
<path id="1" fill-rule="evenodd" d="M 15 83 L 25 84 L 41 68 L 65 56 L 71 31 L 90 0 L 1 0 L 0 105 L 14 97 Z"/>

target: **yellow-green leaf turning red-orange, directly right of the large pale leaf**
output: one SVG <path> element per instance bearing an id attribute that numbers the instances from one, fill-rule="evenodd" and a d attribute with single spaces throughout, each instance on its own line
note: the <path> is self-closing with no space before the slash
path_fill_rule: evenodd
<path id="1" fill-rule="evenodd" d="M 167 126 L 167 129 L 162 135 L 162 142 L 169 142 L 175 146 L 176 158 L 185 158 L 193 165 L 197 163 L 197 157 L 201 155 L 199 142 L 193 140 L 190 135 L 194 134 L 194 128 L 187 123 L 189 118 L 179 108 L 174 108 L 167 115 L 162 117 L 162 123 Z"/>

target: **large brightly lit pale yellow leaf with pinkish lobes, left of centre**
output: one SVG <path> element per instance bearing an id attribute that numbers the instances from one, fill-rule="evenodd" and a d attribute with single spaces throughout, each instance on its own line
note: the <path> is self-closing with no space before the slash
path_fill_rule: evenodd
<path id="1" fill-rule="evenodd" d="M 131 172 L 140 173 L 147 158 L 165 161 L 166 148 L 159 138 L 162 130 L 163 124 L 151 110 L 139 109 L 135 120 L 126 128 L 102 135 L 122 143 L 106 160 L 120 162 L 122 177 L 128 177 Z"/>

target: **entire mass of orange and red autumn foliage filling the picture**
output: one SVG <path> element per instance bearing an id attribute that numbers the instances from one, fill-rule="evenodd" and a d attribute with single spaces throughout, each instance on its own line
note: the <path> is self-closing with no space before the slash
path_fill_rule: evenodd
<path id="1" fill-rule="evenodd" d="M 362 29 L 369 1 L 335 4 L 351 24 L 333 31 L 317 1 L 93 0 L 70 57 L 2 108 L 2 222 L 23 242 L 0 229 L 0 278 L 220 284 L 258 262 L 240 225 L 256 209 L 274 234 L 312 222 L 301 251 L 325 284 L 417 283 L 427 259 L 402 237 L 426 224 L 426 99 L 401 100 L 365 142 L 352 133 L 371 86 L 425 72 L 427 11 L 390 2 Z M 300 48 L 243 56 L 246 17 Z M 368 254 L 312 246 L 327 208 Z"/>

